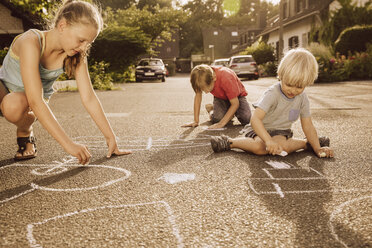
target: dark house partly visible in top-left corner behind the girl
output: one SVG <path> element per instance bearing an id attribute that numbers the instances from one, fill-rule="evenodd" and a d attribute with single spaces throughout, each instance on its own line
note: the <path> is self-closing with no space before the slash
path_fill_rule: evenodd
<path id="1" fill-rule="evenodd" d="M 30 28 L 41 28 L 42 20 L 22 11 L 9 0 L 0 0 L 0 49 L 9 47 L 14 37 Z"/>

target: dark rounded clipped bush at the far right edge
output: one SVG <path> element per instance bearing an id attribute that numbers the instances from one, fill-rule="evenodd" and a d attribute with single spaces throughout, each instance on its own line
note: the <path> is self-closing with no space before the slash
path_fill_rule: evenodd
<path id="1" fill-rule="evenodd" d="M 346 28 L 335 43 L 335 51 L 341 54 L 363 52 L 367 44 L 372 42 L 372 25 Z"/>

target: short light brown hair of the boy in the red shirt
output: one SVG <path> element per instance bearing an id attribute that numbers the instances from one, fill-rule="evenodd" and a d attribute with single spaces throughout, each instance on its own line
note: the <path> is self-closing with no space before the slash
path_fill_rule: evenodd
<path id="1" fill-rule="evenodd" d="M 195 92 L 201 92 L 204 86 L 210 86 L 214 79 L 214 71 L 209 65 L 197 65 L 190 74 L 190 82 Z"/>

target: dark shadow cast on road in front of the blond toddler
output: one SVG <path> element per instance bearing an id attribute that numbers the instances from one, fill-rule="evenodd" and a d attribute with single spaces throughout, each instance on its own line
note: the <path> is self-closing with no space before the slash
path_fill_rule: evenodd
<path id="1" fill-rule="evenodd" d="M 323 175 L 324 159 L 303 151 L 283 158 L 264 156 L 258 163 L 252 163 L 244 155 L 239 157 L 249 165 L 251 192 L 258 194 L 271 213 L 295 224 L 294 247 L 344 247 L 331 233 L 330 215 L 324 209 L 332 198 L 332 188 Z M 286 163 L 291 168 L 275 169 L 267 160 Z M 367 241 L 358 233 L 346 227 L 337 226 L 337 229 L 342 230 L 343 237 L 348 237 L 348 247 L 366 247 Z"/>

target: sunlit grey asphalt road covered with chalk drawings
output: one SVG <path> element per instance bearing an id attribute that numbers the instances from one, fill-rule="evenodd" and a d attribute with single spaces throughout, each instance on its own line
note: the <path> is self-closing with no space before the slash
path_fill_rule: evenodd
<path id="1" fill-rule="evenodd" d="M 275 82 L 243 81 L 248 101 Z M 97 95 L 128 156 L 105 158 L 76 92 L 50 107 L 88 145 L 87 166 L 40 123 L 38 157 L 14 162 L 15 127 L 0 118 L 0 247 L 372 247 L 372 81 L 306 89 L 334 159 L 214 154 L 209 137 L 242 126 L 207 131 L 202 110 L 201 126 L 181 128 L 193 120 L 188 75 L 121 87 Z M 299 123 L 294 134 L 303 137 Z"/>

